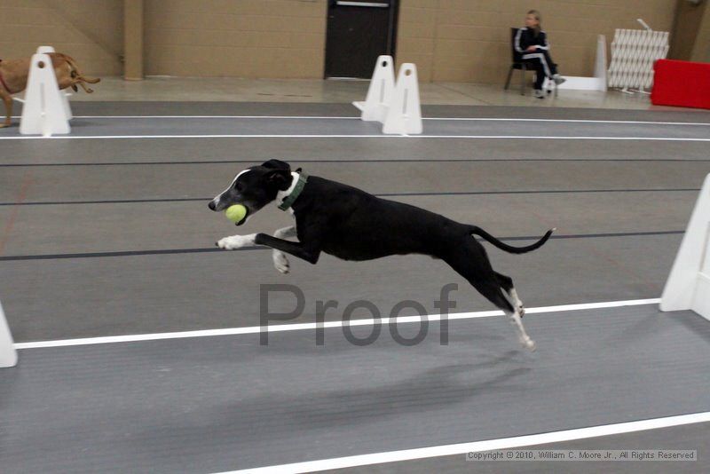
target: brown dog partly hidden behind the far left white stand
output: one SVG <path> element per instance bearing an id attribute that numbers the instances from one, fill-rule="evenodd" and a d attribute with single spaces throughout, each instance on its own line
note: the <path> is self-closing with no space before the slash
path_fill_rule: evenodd
<path id="1" fill-rule="evenodd" d="M 54 74 L 57 75 L 59 89 L 71 87 L 74 91 L 79 91 L 76 85 L 80 85 L 84 91 L 91 94 L 93 92 L 84 83 L 95 84 L 100 79 L 90 79 L 84 77 L 76 62 L 70 56 L 60 52 L 48 52 L 51 58 L 51 66 L 54 67 Z M 24 91 L 28 86 L 29 59 L 0 59 L 0 97 L 5 103 L 5 122 L 0 123 L 0 128 L 10 126 L 12 117 L 12 94 Z"/>

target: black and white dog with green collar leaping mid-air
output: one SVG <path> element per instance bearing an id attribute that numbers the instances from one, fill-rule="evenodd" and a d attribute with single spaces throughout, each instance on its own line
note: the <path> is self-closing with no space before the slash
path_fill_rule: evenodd
<path id="1" fill-rule="evenodd" d="M 520 318 L 525 313 L 513 280 L 496 273 L 483 246 L 472 234 L 514 254 L 539 249 L 555 229 L 527 247 L 511 247 L 476 225 L 460 224 L 425 209 L 380 199 L 355 187 L 318 177 L 300 169 L 291 172 L 286 162 L 270 160 L 241 171 L 222 194 L 209 201 L 209 209 L 224 210 L 242 204 L 248 217 L 276 201 L 280 209 L 296 217 L 296 226 L 265 233 L 233 235 L 217 241 L 220 249 L 239 249 L 254 244 L 273 250 L 276 269 L 288 273 L 282 253 L 315 264 L 320 252 L 343 260 L 371 260 L 390 255 L 423 254 L 440 258 L 463 276 L 483 296 L 509 315 L 519 330 L 520 342 L 534 350 Z M 283 238 L 297 237 L 298 241 Z"/>

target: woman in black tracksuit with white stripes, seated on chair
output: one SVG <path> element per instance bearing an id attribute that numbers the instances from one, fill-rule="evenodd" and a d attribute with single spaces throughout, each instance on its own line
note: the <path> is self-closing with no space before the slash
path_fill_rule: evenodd
<path id="1" fill-rule="evenodd" d="M 540 27 L 540 12 L 531 10 L 525 16 L 525 27 L 517 30 L 515 48 L 521 58 L 530 63 L 535 69 L 535 97 L 543 99 L 542 83 L 545 77 L 555 81 L 556 84 L 564 83 L 565 79 L 557 74 L 557 65 L 549 57 L 548 36 Z"/>

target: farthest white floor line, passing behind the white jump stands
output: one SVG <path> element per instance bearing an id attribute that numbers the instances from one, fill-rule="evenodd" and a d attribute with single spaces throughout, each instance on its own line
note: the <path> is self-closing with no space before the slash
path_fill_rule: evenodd
<path id="1" fill-rule="evenodd" d="M 19 119 L 19 116 L 13 117 Z M 358 116 L 327 115 L 75 115 L 83 119 L 273 119 L 273 120 L 360 120 Z M 690 125 L 710 127 L 710 122 L 649 122 L 643 120 L 583 120 L 498 117 L 422 117 L 430 121 L 454 122 L 559 122 L 559 123 L 627 123 L 641 125 Z"/>

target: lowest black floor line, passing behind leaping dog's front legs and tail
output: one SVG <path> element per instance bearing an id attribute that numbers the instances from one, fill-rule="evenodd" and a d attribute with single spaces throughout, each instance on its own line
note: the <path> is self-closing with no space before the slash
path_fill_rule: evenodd
<path id="1" fill-rule="evenodd" d="M 645 237 L 655 235 L 675 235 L 682 234 L 685 231 L 659 231 L 659 232 L 629 232 L 629 233 L 580 233 L 572 235 L 553 235 L 550 239 L 599 239 L 608 237 Z M 537 241 L 540 235 L 533 236 L 518 236 L 518 237 L 501 237 L 501 241 Z M 477 241 L 482 241 L 477 239 Z M 231 251 L 251 251 L 251 250 L 271 250 L 268 247 L 254 246 L 244 247 L 242 249 Z M 47 255 L 16 255 L 0 257 L 0 262 L 17 262 L 23 260 L 59 260 L 67 258 L 99 258 L 99 257 L 137 257 L 146 255 L 176 255 L 176 254 L 195 254 L 195 253 L 212 253 L 223 252 L 217 248 L 203 249 L 162 249 L 162 250 L 127 250 L 120 252 L 88 252 L 75 254 L 47 254 Z"/>

